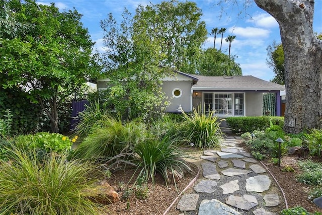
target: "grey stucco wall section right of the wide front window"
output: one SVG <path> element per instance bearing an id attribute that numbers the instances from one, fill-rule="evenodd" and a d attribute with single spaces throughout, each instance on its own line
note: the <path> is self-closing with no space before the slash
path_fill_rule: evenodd
<path id="1" fill-rule="evenodd" d="M 263 115 L 263 93 L 246 93 L 246 116 Z"/>

